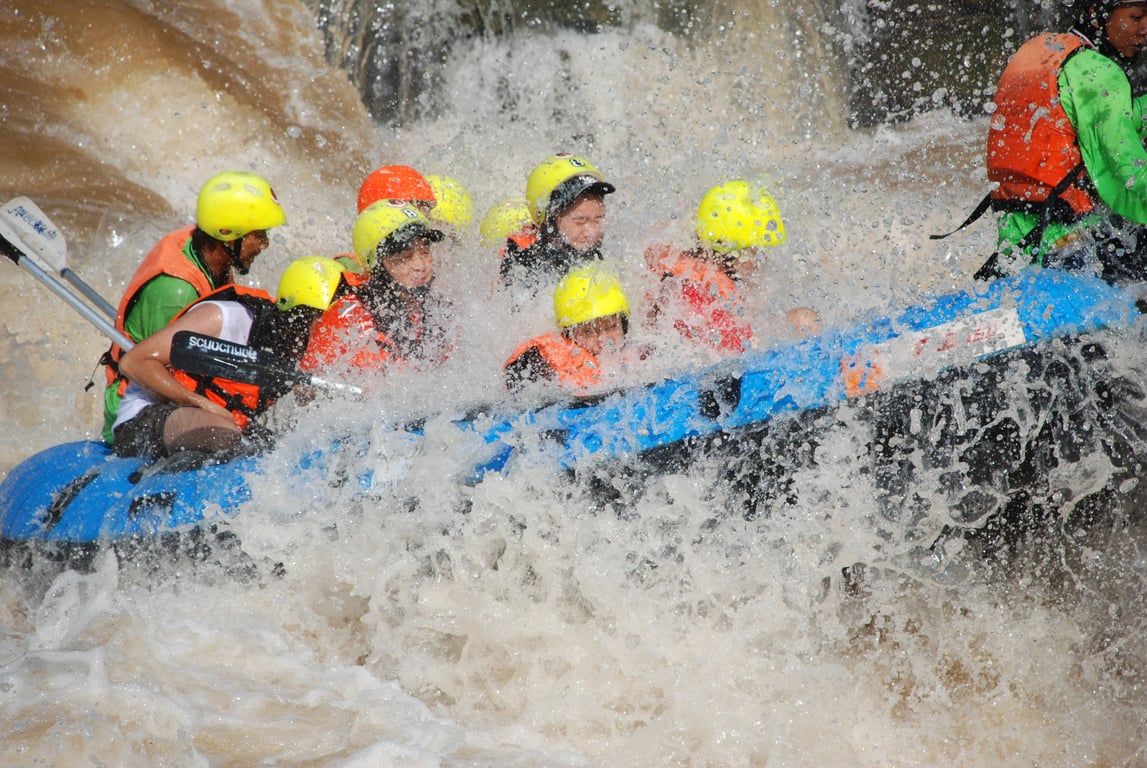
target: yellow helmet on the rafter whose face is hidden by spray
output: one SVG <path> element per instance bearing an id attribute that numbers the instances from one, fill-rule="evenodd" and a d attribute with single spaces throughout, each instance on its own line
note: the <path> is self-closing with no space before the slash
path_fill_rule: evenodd
<path id="1" fill-rule="evenodd" d="M 718 253 L 780 245 L 785 242 L 785 222 L 777 201 L 764 187 L 726 181 L 701 198 L 697 237 Z"/>

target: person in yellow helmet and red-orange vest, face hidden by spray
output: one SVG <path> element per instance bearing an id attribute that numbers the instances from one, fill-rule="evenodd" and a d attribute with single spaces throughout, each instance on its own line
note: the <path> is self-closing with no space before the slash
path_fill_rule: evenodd
<path id="1" fill-rule="evenodd" d="M 655 245 L 646 251 L 646 265 L 660 280 L 657 295 L 648 297 L 650 320 L 665 318 L 685 338 L 720 352 L 744 352 L 754 330 L 741 290 L 763 250 L 785 240 L 785 222 L 767 190 L 744 180 L 717 185 L 697 206 L 692 249 Z M 803 309 L 799 318 L 791 315 L 790 324 L 813 328 L 812 311 Z"/>

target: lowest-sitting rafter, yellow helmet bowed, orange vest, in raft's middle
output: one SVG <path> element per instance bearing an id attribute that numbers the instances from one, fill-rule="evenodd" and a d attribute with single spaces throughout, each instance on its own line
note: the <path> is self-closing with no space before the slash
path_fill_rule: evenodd
<path id="1" fill-rule="evenodd" d="M 612 272 L 592 265 L 562 277 L 554 289 L 554 318 L 560 330 L 518 345 L 502 367 L 510 392 L 530 382 L 593 390 L 621 368 L 630 303 Z"/>

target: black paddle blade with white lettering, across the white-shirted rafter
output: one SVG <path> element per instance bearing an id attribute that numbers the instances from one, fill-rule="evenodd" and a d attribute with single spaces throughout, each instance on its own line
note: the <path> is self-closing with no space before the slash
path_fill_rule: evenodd
<path id="1" fill-rule="evenodd" d="M 188 330 L 178 331 L 172 336 L 171 365 L 188 374 L 227 378 L 257 386 L 289 387 L 295 384 L 309 384 L 352 394 L 362 393 L 357 386 L 329 382 L 301 371 L 287 360 L 266 350 Z"/>

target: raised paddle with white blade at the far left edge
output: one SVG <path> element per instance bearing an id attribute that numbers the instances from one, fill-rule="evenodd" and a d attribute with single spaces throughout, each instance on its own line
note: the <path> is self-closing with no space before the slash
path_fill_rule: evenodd
<path id="1" fill-rule="evenodd" d="M 17 266 L 32 273 L 33 277 L 71 305 L 104 336 L 124 350 L 132 348 L 131 339 L 116 329 L 106 312 L 101 314 L 92 305 L 68 290 L 56 275 L 39 264 L 38 258 L 30 256 L 30 253 L 37 253 L 39 258 L 45 258 L 48 261 L 55 260 L 54 262 L 58 264 L 60 253 L 65 252 L 67 248 L 60 229 L 26 197 L 13 198 L 3 209 L 0 209 L 0 252 L 15 261 Z M 111 316 L 115 316 L 114 309 Z"/>

